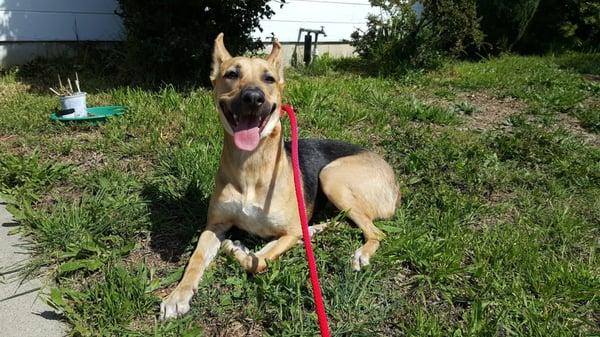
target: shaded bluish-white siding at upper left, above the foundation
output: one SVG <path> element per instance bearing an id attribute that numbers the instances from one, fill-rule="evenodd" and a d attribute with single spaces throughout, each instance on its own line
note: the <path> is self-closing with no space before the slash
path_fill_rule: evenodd
<path id="1" fill-rule="evenodd" d="M 118 41 L 115 0 L 0 0 L 2 41 Z"/>

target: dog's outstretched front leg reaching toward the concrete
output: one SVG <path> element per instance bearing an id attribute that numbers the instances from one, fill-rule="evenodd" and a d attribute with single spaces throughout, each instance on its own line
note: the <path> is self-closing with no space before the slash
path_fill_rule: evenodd
<path id="1" fill-rule="evenodd" d="M 183 278 L 175 290 L 160 304 L 161 319 L 181 316 L 190 310 L 190 300 L 198 290 L 202 274 L 217 255 L 223 236 L 229 227 L 222 224 L 207 226 L 202 232 L 190 262 L 185 268 Z"/>

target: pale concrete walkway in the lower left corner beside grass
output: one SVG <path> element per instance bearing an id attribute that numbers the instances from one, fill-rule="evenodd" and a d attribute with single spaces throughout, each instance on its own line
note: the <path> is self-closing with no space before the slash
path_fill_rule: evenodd
<path id="1" fill-rule="evenodd" d="M 27 255 L 19 247 L 19 237 L 8 235 L 17 224 L 0 200 L 0 336 L 3 337 L 55 337 L 66 334 L 60 316 L 45 304 L 38 293 L 42 280 L 19 284 L 17 273 L 6 273 L 15 263 L 23 262 Z"/>

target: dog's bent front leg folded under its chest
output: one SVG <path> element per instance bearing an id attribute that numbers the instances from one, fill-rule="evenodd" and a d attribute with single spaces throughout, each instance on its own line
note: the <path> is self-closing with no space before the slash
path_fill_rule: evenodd
<path id="1" fill-rule="evenodd" d="M 250 252 L 239 241 L 223 241 L 223 249 L 226 253 L 240 262 L 242 267 L 249 273 L 260 273 L 267 268 L 267 260 L 277 259 L 281 254 L 288 251 L 298 242 L 298 237 L 284 235 L 277 240 L 267 243 L 256 253 Z"/>

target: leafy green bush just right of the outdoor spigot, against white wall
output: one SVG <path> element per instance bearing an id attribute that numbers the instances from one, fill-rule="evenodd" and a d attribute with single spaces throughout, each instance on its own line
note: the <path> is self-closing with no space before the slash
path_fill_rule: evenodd
<path id="1" fill-rule="evenodd" d="M 378 73 L 434 68 L 444 57 L 461 58 L 481 46 L 474 0 L 371 0 L 371 5 L 383 14 L 369 16 L 367 30 L 354 32 L 351 44 Z"/>

